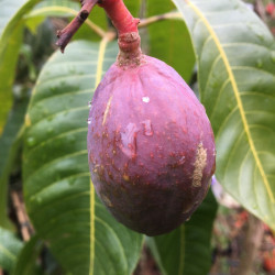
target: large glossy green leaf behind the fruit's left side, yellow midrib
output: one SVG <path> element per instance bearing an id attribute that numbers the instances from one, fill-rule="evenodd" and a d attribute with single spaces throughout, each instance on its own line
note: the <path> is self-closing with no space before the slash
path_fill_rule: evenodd
<path id="1" fill-rule="evenodd" d="M 119 224 L 92 185 L 86 147 L 88 101 L 116 61 L 117 43 L 75 42 L 45 65 L 33 90 L 23 177 L 37 234 L 72 274 L 131 274 L 142 235 Z"/>

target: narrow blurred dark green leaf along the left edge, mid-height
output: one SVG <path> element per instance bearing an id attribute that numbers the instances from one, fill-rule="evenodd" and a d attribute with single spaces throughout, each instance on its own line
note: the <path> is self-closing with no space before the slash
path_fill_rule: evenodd
<path id="1" fill-rule="evenodd" d="M 8 206 L 8 182 L 14 162 L 21 148 L 21 128 L 24 121 L 24 113 L 28 106 L 28 98 L 18 100 L 11 110 L 3 134 L 0 138 L 0 227 L 12 229 L 7 217 Z"/>

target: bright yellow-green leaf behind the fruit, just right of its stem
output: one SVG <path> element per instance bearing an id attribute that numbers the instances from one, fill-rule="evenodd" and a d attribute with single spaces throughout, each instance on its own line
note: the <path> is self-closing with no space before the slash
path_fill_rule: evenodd
<path id="1" fill-rule="evenodd" d="M 147 1 L 147 16 L 160 15 L 175 9 L 170 0 Z M 182 20 L 164 20 L 148 26 L 150 55 L 167 63 L 183 76 L 190 80 L 195 54 L 187 26 Z"/>

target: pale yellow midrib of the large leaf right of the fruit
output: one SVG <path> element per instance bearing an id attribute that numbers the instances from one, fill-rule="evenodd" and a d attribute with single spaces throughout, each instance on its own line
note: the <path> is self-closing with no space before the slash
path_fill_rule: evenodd
<path id="1" fill-rule="evenodd" d="M 231 85 L 232 85 L 232 89 L 233 89 L 233 92 L 234 92 L 234 96 L 235 96 L 235 99 L 237 99 L 237 105 L 238 105 L 238 108 L 239 108 L 239 111 L 240 111 L 240 114 L 241 114 L 244 131 L 246 133 L 248 141 L 249 141 L 249 144 L 250 144 L 250 150 L 251 150 L 252 155 L 253 155 L 253 157 L 255 160 L 255 163 L 256 163 L 256 166 L 257 166 L 257 168 L 260 170 L 260 174 L 261 174 L 261 176 L 263 178 L 263 182 L 264 182 L 266 191 L 268 194 L 268 197 L 271 198 L 272 202 L 275 202 L 275 199 L 274 199 L 270 183 L 268 183 L 267 177 L 265 175 L 264 168 L 263 168 L 262 163 L 260 161 L 260 157 L 257 155 L 257 152 L 256 152 L 256 148 L 255 148 L 255 145 L 254 145 L 251 132 L 250 132 L 250 128 L 249 128 L 249 123 L 248 123 L 248 120 L 246 120 L 246 117 L 245 117 L 245 112 L 244 112 L 243 103 L 242 103 L 241 96 L 240 96 L 240 92 L 239 92 L 239 88 L 238 88 L 234 75 L 232 73 L 232 69 L 230 67 L 230 63 L 228 61 L 226 52 L 223 51 L 223 48 L 221 46 L 221 43 L 220 43 L 216 32 L 213 31 L 212 26 L 210 25 L 210 23 L 208 22 L 206 16 L 202 14 L 202 12 L 191 1 L 186 0 L 186 2 L 195 11 L 195 13 L 200 18 L 200 20 L 205 23 L 207 30 L 209 31 L 209 34 L 212 36 L 213 42 L 217 45 L 218 51 L 220 52 L 220 55 L 221 55 L 222 61 L 224 63 L 226 69 L 228 72 L 228 74 L 229 74 L 229 78 L 230 78 L 230 81 L 231 81 Z"/>

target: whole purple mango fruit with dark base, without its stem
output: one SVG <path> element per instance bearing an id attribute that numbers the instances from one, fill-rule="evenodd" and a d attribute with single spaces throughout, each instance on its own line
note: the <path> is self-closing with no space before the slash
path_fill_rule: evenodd
<path id="1" fill-rule="evenodd" d="M 96 191 L 114 218 L 147 235 L 172 231 L 204 200 L 216 167 L 205 108 L 165 63 L 113 64 L 88 119 Z"/>

